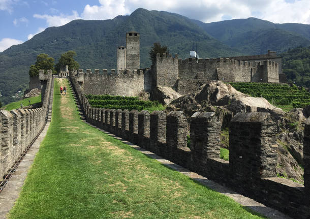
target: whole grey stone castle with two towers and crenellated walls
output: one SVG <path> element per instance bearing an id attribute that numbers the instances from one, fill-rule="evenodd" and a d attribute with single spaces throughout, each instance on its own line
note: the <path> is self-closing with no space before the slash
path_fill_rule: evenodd
<path id="1" fill-rule="evenodd" d="M 155 87 L 168 86 L 184 95 L 212 80 L 225 82 L 285 82 L 281 57 L 268 51 L 264 55 L 227 58 L 186 58 L 178 54 L 157 54 L 151 68 L 140 69 L 140 34 L 126 34 L 126 47 L 117 48 L 117 69 L 103 74 L 95 69 L 78 70 L 77 81 L 85 93 L 94 95 L 137 96 Z"/>

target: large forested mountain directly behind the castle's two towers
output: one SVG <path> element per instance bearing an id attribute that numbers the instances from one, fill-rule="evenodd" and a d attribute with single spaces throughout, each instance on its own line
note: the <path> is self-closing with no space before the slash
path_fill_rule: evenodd
<path id="1" fill-rule="evenodd" d="M 150 67 L 149 50 L 154 42 L 167 45 L 171 53 L 185 58 L 192 49 L 202 57 L 240 55 L 214 39 L 191 19 L 168 12 L 137 9 L 130 16 L 112 20 L 74 20 L 59 27 L 49 27 L 23 44 L 0 53 L 0 90 L 2 101 L 11 101 L 16 91 L 28 83 L 29 66 L 36 56 L 47 53 L 55 58 L 74 50 L 83 69 L 115 69 L 116 48 L 126 45 L 126 32 L 140 33 L 141 68 Z"/>

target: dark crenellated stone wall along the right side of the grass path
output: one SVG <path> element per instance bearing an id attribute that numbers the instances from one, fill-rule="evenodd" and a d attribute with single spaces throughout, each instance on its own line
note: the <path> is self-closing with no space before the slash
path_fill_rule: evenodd
<path id="1" fill-rule="evenodd" d="M 276 124 L 269 113 L 238 113 L 232 118 L 225 161 L 220 159 L 221 126 L 215 113 L 196 112 L 188 123 L 181 111 L 92 108 L 76 78 L 70 79 L 88 122 L 294 218 L 310 217 L 310 118 L 305 126 L 302 185 L 276 177 Z"/>

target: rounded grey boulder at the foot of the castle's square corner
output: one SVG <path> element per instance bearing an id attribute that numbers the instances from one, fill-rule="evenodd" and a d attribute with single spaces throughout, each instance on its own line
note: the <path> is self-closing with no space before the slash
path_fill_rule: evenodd
<path id="1" fill-rule="evenodd" d="M 179 97 L 181 97 L 181 95 L 171 87 L 156 87 L 152 92 L 151 99 L 157 100 L 163 105 L 168 105 Z"/>

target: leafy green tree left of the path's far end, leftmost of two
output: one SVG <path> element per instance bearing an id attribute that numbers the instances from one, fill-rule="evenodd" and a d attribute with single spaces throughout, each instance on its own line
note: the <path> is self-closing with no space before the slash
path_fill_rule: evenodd
<path id="1" fill-rule="evenodd" d="M 49 69 L 54 70 L 54 65 L 54 58 L 49 57 L 48 54 L 41 53 L 37 56 L 36 64 L 30 66 L 29 76 L 38 76 L 41 69 L 44 70 L 44 73 Z"/>

